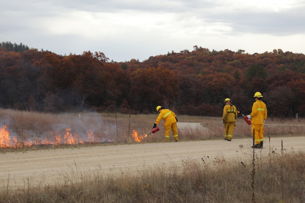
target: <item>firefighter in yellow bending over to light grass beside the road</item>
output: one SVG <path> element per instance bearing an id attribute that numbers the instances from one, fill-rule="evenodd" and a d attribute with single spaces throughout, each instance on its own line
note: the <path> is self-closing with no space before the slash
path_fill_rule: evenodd
<path id="1" fill-rule="evenodd" d="M 165 141 L 168 141 L 170 139 L 170 129 L 171 129 L 175 142 L 178 142 L 178 131 L 177 131 L 178 120 L 176 118 L 176 114 L 169 109 L 163 109 L 163 107 L 161 106 L 157 106 L 157 111 L 159 113 L 159 116 L 157 117 L 153 128 L 155 128 L 157 124 L 161 121 L 161 119 L 163 119 L 164 129 L 165 129 Z"/>

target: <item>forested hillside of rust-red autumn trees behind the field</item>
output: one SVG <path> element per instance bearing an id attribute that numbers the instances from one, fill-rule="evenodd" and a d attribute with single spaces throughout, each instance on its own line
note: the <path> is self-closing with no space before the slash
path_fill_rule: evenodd
<path id="1" fill-rule="evenodd" d="M 0 107 L 43 112 L 92 109 L 221 116 L 230 98 L 244 114 L 263 94 L 270 117 L 304 116 L 305 55 L 243 50 L 172 51 L 142 62 L 109 62 L 102 52 L 58 55 L 0 47 Z"/>

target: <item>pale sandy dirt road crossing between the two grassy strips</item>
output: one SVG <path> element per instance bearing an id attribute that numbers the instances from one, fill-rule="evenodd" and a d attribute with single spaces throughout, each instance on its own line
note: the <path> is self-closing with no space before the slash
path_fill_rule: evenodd
<path id="1" fill-rule="evenodd" d="M 304 150 L 305 137 L 271 138 L 271 150 L 281 153 L 281 140 L 286 152 Z M 55 184 L 69 173 L 93 172 L 135 173 L 160 164 L 181 166 L 185 159 L 214 158 L 238 159 L 251 163 L 252 139 L 134 143 L 74 149 L 48 149 L 41 151 L 1 154 L 1 187 Z M 260 149 L 256 149 L 260 150 Z M 264 143 L 262 153 L 269 153 L 269 140 Z"/>

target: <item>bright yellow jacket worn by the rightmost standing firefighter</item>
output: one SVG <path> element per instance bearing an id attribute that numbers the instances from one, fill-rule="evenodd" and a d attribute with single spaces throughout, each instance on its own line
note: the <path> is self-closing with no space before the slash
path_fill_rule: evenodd
<path id="1" fill-rule="evenodd" d="M 264 124 L 264 120 L 267 118 L 266 104 L 261 100 L 254 102 L 250 116 L 252 116 L 252 124 Z"/>

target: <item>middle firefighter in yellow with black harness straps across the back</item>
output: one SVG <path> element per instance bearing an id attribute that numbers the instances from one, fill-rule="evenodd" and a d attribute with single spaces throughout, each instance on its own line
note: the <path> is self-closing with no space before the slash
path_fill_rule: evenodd
<path id="1" fill-rule="evenodd" d="M 235 121 L 237 118 L 237 110 L 234 105 L 231 104 L 229 98 L 224 100 L 224 113 L 222 114 L 222 122 L 224 124 L 224 139 L 231 141 L 233 138 L 233 131 L 235 128 Z"/>

